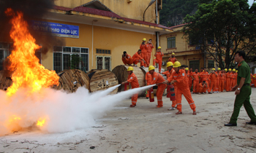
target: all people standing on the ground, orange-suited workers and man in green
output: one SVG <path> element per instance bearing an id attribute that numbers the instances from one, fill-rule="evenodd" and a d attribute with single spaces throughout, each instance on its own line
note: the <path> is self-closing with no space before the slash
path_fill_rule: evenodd
<path id="1" fill-rule="evenodd" d="M 190 108 L 193 111 L 193 115 L 196 115 L 195 111 L 196 106 L 195 102 L 192 99 L 192 95 L 190 93 L 190 88 L 193 84 L 194 93 L 211 93 L 213 90 L 214 93 L 222 92 L 224 89 L 227 91 L 236 91 L 236 100 L 234 104 L 234 110 L 232 117 L 230 118 L 230 122 L 225 124 L 225 126 L 236 126 L 236 122 L 238 119 L 238 114 L 241 109 L 241 106 L 244 105 L 246 112 L 251 119 L 250 122 L 246 122 L 249 125 L 256 125 L 256 115 L 255 111 L 252 108 L 252 105 L 249 101 L 249 97 L 252 93 L 251 85 L 252 79 L 255 81 L 255 75 L 250 76 L 249 66 L 244 61 L 245 53 L 244 52 L 236 52 L 235 60 L 238 62 L 238 71 L 236 69 L 226 69 L 222 70 L 220 68 L 215 71 L 213 68 L 211 74 L 208 74 L 206 68 L 202 70 L 200 73 L 197 69 L 195 72 L 192 70 L 188 70 L 188 68 L 181 68 L 181 63 L 176 61 L 174 63 L 167 63 L 167 71 L 163 72 L 167 76 L 167 80 L 164 77 L 155 71 L 154 66 L 148 67 L 148 72 L 146 73 L 146 82 L 147 85 L 157 85 L 157 108 L 161 108 L 163 106 L 162 95 L 167 87 L 167 84 L 174 85 L 176 101 L 172 101 L 172 107 L 168 110 L 178 109 L 176 114 L 182 114 L 182 106 L 181 106 L 181 97 L 187 99 Z M 138 78 L 133 73 L 132 66 L 129 66 L 127 69 L 129 74 L 126 82 L 122 82 L 124 85 L 129 82 L 132 88 L 140 87 L 138 83 Z M 161 73 L 161 72 L 160 72 Z M 192 82 L 191 79 L 192 78 Z M 189 81 L 190 80 L 190 81 Z M 147 95 L 148 96 L 148 95 Z M 135 107 L 138 100 L 138 94 L 132 96 L 132 104 L 130 107 Z"/>

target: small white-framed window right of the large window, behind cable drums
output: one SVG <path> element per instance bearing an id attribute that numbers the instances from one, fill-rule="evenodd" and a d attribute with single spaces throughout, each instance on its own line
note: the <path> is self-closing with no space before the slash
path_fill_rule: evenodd
<path id="1" fill-rule="evenodd" d="M 108 69 L 111 71 L 111 57 L 97 56 L 97 69 Z"/>

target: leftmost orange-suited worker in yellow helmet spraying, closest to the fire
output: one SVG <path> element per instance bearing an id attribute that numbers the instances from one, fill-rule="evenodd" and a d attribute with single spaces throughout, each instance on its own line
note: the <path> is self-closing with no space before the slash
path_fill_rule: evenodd
<path id="1" fill-rule="evenodd" d="M 129 82 L 132 86 L 132 89 L 140 87 L 139 82 L 138 82 L 138 78 L 133 73 L 132 66 L 129 66 L 129 68 L 127 69 L 127 73 L 129 74 L 128 79 L 127 79 L 126 82 L 122 82 L 121 85 L 124 85 L 124 84 Z M 130 107 L 135 107 L 136 103 L 137 103 L 137 100 L 138 100 L 138 93 L 135 94 L 135 95 L 132 95 L 132 105 L 130 105 Z"/>

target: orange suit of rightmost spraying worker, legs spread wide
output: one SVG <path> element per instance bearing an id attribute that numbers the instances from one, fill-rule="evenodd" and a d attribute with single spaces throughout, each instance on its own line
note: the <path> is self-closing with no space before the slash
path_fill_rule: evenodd
<path id="1" fill-rule="evenodd" d="M 176 95 L 176 102 L 177 102 L 177 109 L 178 111 L 181 111 L 181 95 L 183 94 L 184 97 L 187 99 L 187 102 L 189 103 L 190 108 L 195 111 L 195 102 L 192 99 L 189 87 L 187 85 L 187 80 L 185 77 L 186 72 L 182 69 L 178 70 L 178 73 L 175 71 L 172 74 L 170 74 L 170 77 L 167 79 L 169 82 L 176 80 L 175 86 L 177 87 L 177 95 Z"/>

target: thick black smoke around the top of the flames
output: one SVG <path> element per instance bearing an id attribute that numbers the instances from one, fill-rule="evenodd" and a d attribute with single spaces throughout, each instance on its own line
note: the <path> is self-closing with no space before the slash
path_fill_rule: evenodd
<path id="1" fill-rule="evenodd" d="M 11 17 L 7 17 L 4 11 L 12 8 L 15 12 L 23 12 L 24 20 L 28 23 L 31 20 L 43 20 L 49 9 L 53 9 L 54 0 L 0 0 L 0 42 L 13 42 L 10 39 Z M 37 44 L 42 45 L 42 54 L 52 51 L 53 46 L 65 44 L 61 37 L 39 34 L 29 27 L 31 35 L 36 39 Z M 42 56 L 43 57 L 43 56 Z"/>

